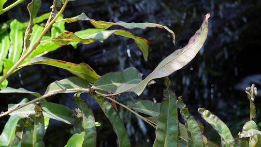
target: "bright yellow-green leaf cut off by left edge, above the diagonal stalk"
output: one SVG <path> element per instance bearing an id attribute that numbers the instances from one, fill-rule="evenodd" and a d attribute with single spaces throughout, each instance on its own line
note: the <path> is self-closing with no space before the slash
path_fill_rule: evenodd
<path id="1" fill-rule="evenodd" d="M 4 31 L 0 34 L 0 73 L 3 70 L 3 60 L 5 59 L 10 47 L 9 34 L 7 31 Z"/>

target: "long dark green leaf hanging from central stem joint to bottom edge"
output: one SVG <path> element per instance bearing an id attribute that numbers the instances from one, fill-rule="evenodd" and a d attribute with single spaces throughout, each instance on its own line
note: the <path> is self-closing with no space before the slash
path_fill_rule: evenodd
<path id="1" fill-rule="evenodd" d="M 131 142 L 125 127 L 113 106 L 108 101 L 104 100 L 100 95 L 92 95 L 92 97 L 100 105 L 103 113 L 112 123 L 113 130 L 118 136 L 119 147 L 131 147 Z"/>

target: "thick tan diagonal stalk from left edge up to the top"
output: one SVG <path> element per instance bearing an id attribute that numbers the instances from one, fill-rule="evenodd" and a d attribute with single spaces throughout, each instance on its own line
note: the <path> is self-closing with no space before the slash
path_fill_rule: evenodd
<path id="1" fill-rule="evenodd" d="M 43 32 L 41 33 L 40 37 L 38 38 L 38 40 L 36 41 L 36 43 L 29 48 L 29 50 L 26 52 L 26 54 L 24 56 L 22 56 L 15 64 L 14 66 L 5 74 L 3 75 L 3 77 L 0 79 L 0 84 L 7 79 L 14 71 L 15 69 L 31 54 L 31 52 L 40 44 L 43 36 L 45 35 L 45 33 L 52 27 L 52 25 L 55 23 L 56 19 L 58 18 L 59 15 L 62 14 L 62 12 L 64 11 L 67 3 L 69 0 L 66 0 L 61 8 L 61 10 L 58 12 L 58 14 L 54 17 L 54 19 L 46 26 L 46 28 L 43 29 Z M 51 14 L 52 15 L 52 14 Z"/>

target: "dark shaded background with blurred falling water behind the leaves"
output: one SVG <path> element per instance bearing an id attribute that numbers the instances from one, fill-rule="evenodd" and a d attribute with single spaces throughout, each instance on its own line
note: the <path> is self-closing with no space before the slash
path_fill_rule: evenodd
<path id="1" fill-rule="evenodd" d="M 12 0 L 10 0 L 12 2 Z M 28 20 L 25 0 L 12 10 L 0 16 L 0 22 L 8 19 Z M 39 15 L 50 11 L 51 0 L 43 0 Z M 159 62 L 188 43 L 188 39 L 199 29 L 203 17 L 211 13 L 209 34 L 200 53 L 188 65 L 170 75 L 172 88 L 178 96 L 182 95 L 191 114 L 205 126 L 204 134 L 217 143 L 217 132 L 206 124 L 197 110 L 206 108 L 221 118 L 232 130 L 233 136 L 241 131 L 249 118 L 249 103 L 245 88 L 252 83 L 261 87 L 261 1 L 260 0 L 76 0 L 69 2 L 64 17 L 86 13 L 90 18 L 104 21 L 152 22 L 168 26 L 175 32 L 176 45 L 171 35 L 163 29 L 132 29 L 137 36 L 150 42 L 148 61 L 131 39 L 118 36 L 110 37 L 104 43 L 79 45 L 77 49 L 64 46 L 48 53 L 45 57 L 70 61 L 86 62 L 98 74 L 136 67 L 146 77 Z M 93 28 L 88 21 L 66 24 L 69 31 Z M 112 27 L 117 29 L 119 27 Z M 46 66 L 33 65 L 23 68 L 8 78 L 9 86 L 23 87 L 44 93 L 51 82 L 72 76 L 71 73 Z M 131 93 L 136 101 L 149 99 L 162 100 L 163 79 L 146 88 L 140 97 Z M 72 109 L 73 94 L 59 94 L 48 101 L 65 104 Z M 8 103 L 18 103 L 24 94 L 1 94 L 0 110 L 6 111 Z M 30 97 L 29 97 L 30 98 Z M 97 128 L 97 147 L 116 147 L 116 135 L 109 120 L 104 117 L 99 106 L 87 94 L 82 95 L 93 109 L 96 121 L 102 126 Z M 255 104 L 259 121 L 261 112 L 260 95 Z M 128 94 L 117 98 L 131 104 Z M 119 107 L 118 107 L 119 108 Z M 133 114 L 119 108 L 133 147 L 151 147 L 155 130 Z M 0 130 L 8 117 L 0 119 Z M 181 120 L 182 121 L 182 120 Z M 44 137 L 47 147 L 63 147 L 73 133 L 73 127 L 51 120 Z"/>

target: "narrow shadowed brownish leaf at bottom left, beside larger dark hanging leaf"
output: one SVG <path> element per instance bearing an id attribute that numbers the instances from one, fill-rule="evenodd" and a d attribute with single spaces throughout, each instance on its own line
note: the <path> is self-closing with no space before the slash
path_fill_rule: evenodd
<path id="1" fill-rule="evenodd" d="M 25 119 L 20 119 L 18 121 L 15 129 L 15 136 L 12 139 L 10 147 L 21 147 L 25 122 L 26 122 Z"/>

